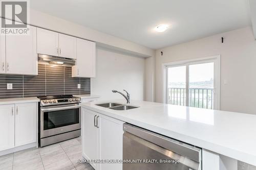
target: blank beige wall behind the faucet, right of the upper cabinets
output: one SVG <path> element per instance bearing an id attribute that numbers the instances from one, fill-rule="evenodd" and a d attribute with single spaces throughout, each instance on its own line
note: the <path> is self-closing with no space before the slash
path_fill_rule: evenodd
<path id="1" fill-rule="evenodd" d="M 123 99 L 112 90 L 127 90 L 131 100 L 143 100 L 145 59 L 97 47 L 96 78 L 91 79 L 91 93 L 100 100 Z M 125 101 L 125 100 L 124 100 Z"/>

